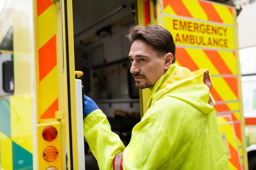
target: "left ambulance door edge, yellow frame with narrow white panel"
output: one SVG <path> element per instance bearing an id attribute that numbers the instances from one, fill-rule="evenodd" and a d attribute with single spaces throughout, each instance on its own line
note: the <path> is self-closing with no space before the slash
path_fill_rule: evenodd
<path id="1" fill-rule="evenodd" d="M 84 170 L 83 92 L 81 72 L 75 73 L 72 0 L 60 0 L 68 170 Z"/>

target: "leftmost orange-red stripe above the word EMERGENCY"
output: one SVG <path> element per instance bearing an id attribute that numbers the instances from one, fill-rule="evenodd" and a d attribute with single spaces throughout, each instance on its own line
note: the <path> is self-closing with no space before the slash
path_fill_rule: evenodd
<path id="1" fill-rule="evenodd" d="M 181 0 L 163 0 L 163 8 L 169 5 L 179 16 L 193 18 Z"/>

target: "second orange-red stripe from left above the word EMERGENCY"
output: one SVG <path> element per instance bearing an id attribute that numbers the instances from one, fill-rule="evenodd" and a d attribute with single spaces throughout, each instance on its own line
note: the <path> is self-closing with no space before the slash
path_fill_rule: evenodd
<path id="1" fill-rule="evenodd" d="M 201 1 L 201 0 L 198 0 L 198 2 L 201 5 L 201 7 L 204 9 L 210 21 L 216 22 L 216 23 L 223 23 L 223 21 L 221 20 L 221 17 L 213 7 L 212 3 Z"/>

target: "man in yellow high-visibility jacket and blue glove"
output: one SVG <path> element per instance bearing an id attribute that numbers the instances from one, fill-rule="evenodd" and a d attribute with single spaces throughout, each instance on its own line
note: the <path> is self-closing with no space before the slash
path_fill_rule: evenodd
<path id="1" fill-rule="evenodd" d="M 229 170 L 214 113 L 209 71 L 175 63 L 172 34 L 135 26 L 129 59 L 136 87 L 151 90 L 148 111 L 125 148 L 104 113 L 85 96 L 84 137 L 101 170 Z"/>

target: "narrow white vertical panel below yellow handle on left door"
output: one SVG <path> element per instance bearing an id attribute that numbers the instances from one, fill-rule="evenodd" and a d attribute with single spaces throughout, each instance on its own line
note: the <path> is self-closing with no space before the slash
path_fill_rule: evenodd
<path id="1" fill-rule="evenodd" d="M 78 163 L 79 170 L 85 170 L 84 164 L 84 123 L 83 123 L 83 100 L 82 100 L 82 82 L 76 79 L 76 121 L 78 136 Z"/>

